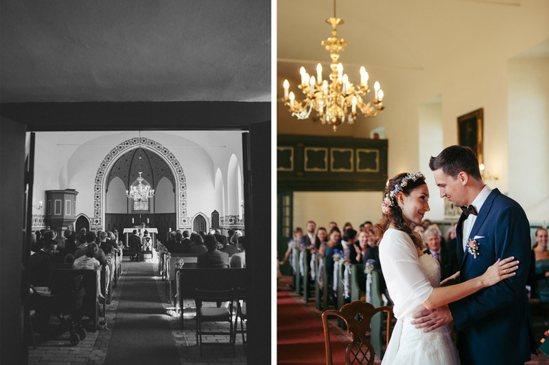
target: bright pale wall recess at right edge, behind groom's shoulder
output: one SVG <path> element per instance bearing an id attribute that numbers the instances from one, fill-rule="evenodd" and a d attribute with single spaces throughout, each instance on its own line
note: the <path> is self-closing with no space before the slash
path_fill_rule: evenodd
<path id="1" fill-rule="evenodd" d="M 549 221 L 549 58 L 509 61 L 509 195 L 530 223 Z"/>

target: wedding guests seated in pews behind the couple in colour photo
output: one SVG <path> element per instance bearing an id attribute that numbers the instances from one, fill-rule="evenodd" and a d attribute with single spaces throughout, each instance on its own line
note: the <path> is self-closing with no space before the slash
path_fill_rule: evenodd
<path id="1" fill-rule="evenodd" d="M 437 223 L 431 223 L 427 219 L 420 225 L 414 225 L 415 234 L 421 238 L 425 246 L 423 253 L 432 255 L 440 264 L 441 281 L 452 280 L 452 275 L 459 270 L 456 255 L 456 224 L 443 225 L 443 229 L 447 231 L 445 236 Z M 547 229 L 536 229 L 526 290 L 530 298 L 535 335 L 539 335 L 539 338 L 546 336 L 541 333 L 546 330 L 546 312 L 549 302 L 547 244 Z M 287 262 L 289 265 L 285 265 Z M 358 354 L 355 360 L 366 358 L 369 356 L 366 355 L 369 350 L 364 350 L 366 345 L 361 349 L 360 340 L 356 340 L 358 334 L 354 332 L 360 325 L 362 326 L 360 331 L 364 332 L 360 336 L 366 339 L 364 341 L 369 343 L 371 353 L 375 354 L 375 364 L 380 364 L 396 318 L 393 317 L 391 309 L 393 301 L 386 288 L 379 261 L 378 242 L 371 222 L 366 221 L 360 225 L 360 231 L 357 232 L 351 223 L 346 223 L 343 229 L 339 229 L 335 222 L 329 224 L 329 229 L 325 227 L 316 229 L 316 223 L 309 221 L 305 234 L 299 227 L 294 230 L 294 238 L 288 242 L 288 250 L 278 264 L 279 338 L 277 341 L 278 356 L 282 363 L 286 360 L 296 360 L 296 355 L 290 353 L 291 348 L 288 347 L 290 343 L 299 342 L 304 337 L 314 342 L 311 331 L 313 329 L 316 331 L 320 327 L 324 327 L 325 338 L 316 338 L 319 342 L 318 347 L 309 343 L 311 345 L 309 347 L 315 349 L 318 361 L 324 362 L 325 359 L 334 357 L 334 363 L 337 363 L 344 358 L 345 347 L 334 347 L 334 336 L 330 337 L 334 329 L 339 333 L 340 342 L 349 343 L 351 357 Z M 291 275 L 282 275 L 281 268 L 288 268 L 288 266 Z M 290 298 L 293 300 L 289 300 Z M 377 308 L 376 313 L 381 312 L 381 314 L 373 315 L 369 308 L 357 307 L 355 301 L 370 303 L 373 305 L 372 310 Z M 297 304 L 311 314 L 313 320 L 308 331 L 289 334 L 286 330 L 285 326 L 292 323 L 290 320 L 292 310 L 288 310 L 288 303 Z M 352 308 L 349 307 L 350 303 L 353 303 Z M 538 308 L 540 303 L 541 307 Z M 352 316 L 344 319 L 344 314 L 349 314 L 351 310 L 362 313 L 358 317 L 358 324 L 351 318 Z M 360 324 L 360 320 L 366 317 L 364 315 L 366 313 L 371 314 L 372 317 L 367 318 L 367 325 Z M 304 318 L 303 315 L 297 317 L 299 320 L 302 318 Z M 307 327 L 307 325 L 302 323 L 300 327 Z M 353 336 L 349 336 L 347 330 L 353 333 Z M 358 344 L 355 343 L 357 341 Z M 325 342 L 326 354 L 318 354 L 317 350 L 323 348 Z"/>

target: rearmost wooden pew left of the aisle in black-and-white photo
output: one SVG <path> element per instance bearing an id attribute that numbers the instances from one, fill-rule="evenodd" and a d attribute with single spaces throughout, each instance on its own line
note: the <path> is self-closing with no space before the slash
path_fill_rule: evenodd
<path id="1" fill-rule="evenodd" d="M 70 264 L 62 264 L 70 265 Z M 80 270 L 73 268 L 54 267 L 51 288 L 54 291 L 56 283 L 67 282 L 67 278 L 75 277 L 76 275 L 84 275 L 82 286 L 86 290 L 84 301 L 82 303 L 82 314 L 87 316 L 92 321 L 92 331 L 97 331 L 97 323 L 99 322 L 99 301 L 97 301 L 97 273 L 95 270 Z"/>

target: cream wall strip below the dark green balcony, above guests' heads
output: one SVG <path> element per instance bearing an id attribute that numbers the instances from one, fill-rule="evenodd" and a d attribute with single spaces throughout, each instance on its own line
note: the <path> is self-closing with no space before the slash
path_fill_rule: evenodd
<path id="1" fill-rule="evenodd" d="M 382 218 L 382 200 L 382 192 L 294 192 L 294 229 L 305 230 L 307 221 L 328 228 L 335 221 L 340 228 L 351 222 L 358 230 L 364 221 Z"/>

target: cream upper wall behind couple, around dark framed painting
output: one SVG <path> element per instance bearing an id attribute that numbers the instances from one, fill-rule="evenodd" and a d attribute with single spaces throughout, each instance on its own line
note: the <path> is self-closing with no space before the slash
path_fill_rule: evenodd
<path id="1" fill-rule="evenodd" d="M 425 156 L 437 155 L 444 147 L 456 144 L 458 142 L 458 116 L 483 108 L 484 164 L 487 166 L 487 171 L 500 175 L 497 181 L 487 182 L 492 188 L 499 188 L 503 192 L 513 192 L 511 197 L 519 200 L 526 199 L 525 204 L 529 205 L 533 199 L 527 196 L 533 193 L 532 190 L 529 190 L 528 178 L 524 179 L 524 173 L 517 174 L 517 171 L 513 171 L 516 164 L 510 160 L 510 155 L 515 155 L 515 147 L 512 142 L 512 139 L 515 138 L 515 127 L 520 122 L 509 119 L 508 63 L 515 55 L 547 40 L 549 37 L 547 7 L 547 3 L 523 2 L 519 8 L 509 8 L 509 12 L 506 12 L 505 16 L 520 19 L 520 23 L 516 24 L 512 31 L 506 29 L 504 34 L 493 32 L 493 29 L 489 27 L 482 29 L 482 34 L 479 34 L 478 38 L 474 40 L 482 42 L 482 47 L 475 45 L 476 52 L 472 54 L 467 49 L 455 49 L 448 53 L 446 48 L 452 47 L 452 45 L 441 44 L 440 47 L 445 47 L 445 51 L 449 55 L 443 62 L 425 62 L 417 68 L 365 64 L 367 71 L 382 84 L 385 92 L 386 110 L 376 118 L 358 120 L 354 125 L 340 127 L 337 134 L 318 122 L 296 120 L 288 112 L 288 108 L 279 101 L 277 103 L 278 133 L 368 138 L 372 129 L 384 125 L 388 139 L 389 177 L 402 171 L 418 171 L 419 169 L 429 176 L 430 171 L 425 168 Z M 543 10 L 541 10 L 542 8 Z M 434 29 L 425 29 L 425 32 L 434 31 Z M 456 32 L 459 32 L 457 23 Z M 415 51 L 418 55 L 423 56 L 421 49 Z M 357 79 L 358 71 L 355 72 L 352 66 L 347 66 L 344 57 L 342 57 L 342 62 L 349 71 L 351 80 Z M 543 64 L 546 61 L 541 60 L 540 62 Z M 311 70 L 314 69 L 312 66 L 307 67 Z M 299 70 L 295 71 L 295 75 L 299 76 Z M 546 71 L 541 75 L 541 82 L 548 85 L 544 78 Z M 288 75 L 277 77 L 279 99 L 283 92 L 282 81 L 286 77 Z M 294 84 L 295 92 L 296 80 L 290 82 Z M 443 135 L 441 140 L 437 137 L 437 148 L 435 149 L 434 144 L 422 143 L 419 134 L 423 131 L 421 105 L 437 95 L 441 95 L 443 99 L 439 111 L 440 123 L 437 122 L 437 129 L 441 128 Z M 547 105 L 546 94 L 537 94 L 536 100 L 538 98 L 540 103 Z M 543 118 L 539 119 L 539 121 L 542 120 Z M 509 127 L 508 121 L 512 127 Z M 545 118 L 544 121 L 548 123 L 548 118 Z M 529 132 L 536 133 L 532 130 Z M 545 142 L 546 146 L 547 140 Z M 547 155 L 547 152 L 545 153 Z M 527 166 L 531 171 L 533 166 L 530 164 Z M 528 175 L 530 174 L 526 174 L 526 176 Z M 510 179 L 513 179 L 513 182 Z M 546 183 L 548 179 L 540 181 Z M 430 184 L 429 180 L 428 184 Z M 530 192 L 525 193 L 527 190 Z M 435 199 L 438 197 L 438 192 L 432 185 L 430 185 L 430 192 L 432 201 L 434 201 L 434 209 L 428 217 L 434 221 L 442 221 L 444 216 L 441 200 Z M 547 196 L 546 186 L 540 194 Z M 300 199 L 303 199 L 300 195 L 294 198 L 294 206 L 303 205 Z M 544 206 L 548 205 L 549 202 Z M 328 210 L 334 207 L 339 209 L 337 203 L 327 205 Z M 528 207 L 525 208 L 528 209 Z M 537 210 L 541 211 L 539 208 Z M 338 221 L 343 221 L 343 219 L 338 219 Z M 303 223 L 300 224 L 303 225 Z"/>

